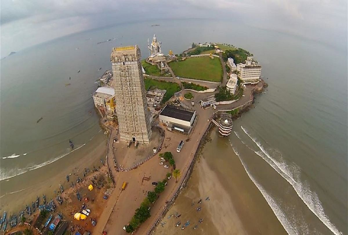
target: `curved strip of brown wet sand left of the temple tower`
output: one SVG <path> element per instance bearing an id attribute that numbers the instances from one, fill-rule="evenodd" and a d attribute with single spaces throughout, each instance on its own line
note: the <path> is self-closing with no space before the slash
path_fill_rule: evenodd
<path id="1" fill-rule="evenodd" d="M 102 165 L 100 159 L 105 161 L 106 156 L 106 138 L 103 132 L 98 133 L 92 141 L 88 142 L 84 147 L 74 151 L 73 153 L 48 164 L 37 170 L 29 171 L 8 180 L 1 181 L 1 187 L 9 189 L 10 192 L 1 197 L 1 212 L 4 210 L 8 214 L 18 213 L 23 210 L 25 205 L 31 205 L 31 202 L 40 197 L 42 203 L 42 195 L 46 195 L 46 200 L 54 198 L 56 193 L 60 193 L 59 184 L 64 189 L 68 189 L 71 182 L 76 183 L 77 175 L 82 179 L 83 170 L 85 168 L 93 169 Z M 76 169 L 75 169 L 76 167 Z M 66 182 L 66 175 L 77 172 L 77 175 L 70 175 L 69 183 Z M 24 180 L 25 179 L 25 180 Z M 30 185 L 26 185 L 26 179 L 32 179 Z M 11 187 L 22 188 L 22 191 L 11 190 Z"/>

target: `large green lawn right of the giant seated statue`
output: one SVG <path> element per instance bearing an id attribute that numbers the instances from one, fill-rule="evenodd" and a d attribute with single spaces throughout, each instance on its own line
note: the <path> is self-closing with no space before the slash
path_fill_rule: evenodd
<path id="1" fill-rule="evenodd" d="M 222 66 L 219 58 L 187 58 L 169 63 L 176 76 L 197 80 L 221 82 Z"/>

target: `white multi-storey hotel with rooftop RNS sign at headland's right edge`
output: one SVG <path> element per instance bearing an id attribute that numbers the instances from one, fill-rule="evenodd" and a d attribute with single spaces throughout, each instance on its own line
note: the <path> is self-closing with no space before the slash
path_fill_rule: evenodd
<path id="1" fill-rule="evenodd" d="M 261 65 L 255 63 L 252 56 L 247 57 L 245 64 L 237 64 L 237 70 L 243 83 L 256 83 L 260 79 Z"/>

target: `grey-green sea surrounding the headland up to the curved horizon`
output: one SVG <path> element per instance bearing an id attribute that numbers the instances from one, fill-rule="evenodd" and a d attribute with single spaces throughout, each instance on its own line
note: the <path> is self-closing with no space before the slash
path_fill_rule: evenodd
<path id="1" fill-rule="evenodd" d="M 348 234 L 347 49 L 212 19 L 119 24 L 2 59 L 1 212 L 17 209 L 16 194 L 105 143 L 91 98 L 96 79 L 111 69 L 112 47 L 137 44 L 146 57 L 154 33 L 164 53 L 180 54 L 192 42 L 225 42 L 254 54 L 267 92 L 256 95 L 255 108 L 234 122 L 228 139 L 214 135 L 215 146 L 208 146 L 215 151 L 204 158 L 219 179 L 238 159 L 287 233 Z M 79 149 L 70 152 L 69 139 Z M 238 194 L 228 185 L 226 191 Z"/>

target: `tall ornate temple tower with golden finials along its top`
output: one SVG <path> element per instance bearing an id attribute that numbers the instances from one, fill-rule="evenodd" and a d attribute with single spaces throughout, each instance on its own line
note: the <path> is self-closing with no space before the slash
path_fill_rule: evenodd
<path id="1" fill-rule="evenodd" d="M 120 138 L 149 143 L 152 132 L 140 49 L 137 45 L 114 47 L 110 59 Z"/>

